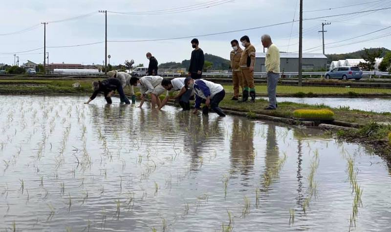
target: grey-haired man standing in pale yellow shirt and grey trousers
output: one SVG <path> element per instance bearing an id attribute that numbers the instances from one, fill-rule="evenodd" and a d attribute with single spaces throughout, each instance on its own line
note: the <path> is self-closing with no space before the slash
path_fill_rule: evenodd
<path id="1" fill-rule="evenodd" d="M 272 42 L 269 35 L 263 35 L 261 38 L 263 47 L 267 47 L 265 58 L 265 67 L 267 71 L 267 95 L 269 97 L 269 106 L 265 109 L 273 110 L 277 108 L 277 84 L 280 78 L 280 50 Z"/>

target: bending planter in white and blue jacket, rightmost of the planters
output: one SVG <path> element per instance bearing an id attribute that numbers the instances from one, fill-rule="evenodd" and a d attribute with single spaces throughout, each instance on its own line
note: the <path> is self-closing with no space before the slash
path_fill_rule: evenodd
<path id="1" fill-rule="evenodd" d="M 185 87 L 193 89 L 195 93 L 195 106 L 193 113 L 197 113 L 201 103 L 205 103 L 203 114 L 208 114 L 211 107 L 219 116 L 225 117 L 225 113 L 218 107 L 224 99 L 225 90 L 221 84 L 216 84 L 202 79 L 194 80 L 191 77 L 185 79 Z"/>

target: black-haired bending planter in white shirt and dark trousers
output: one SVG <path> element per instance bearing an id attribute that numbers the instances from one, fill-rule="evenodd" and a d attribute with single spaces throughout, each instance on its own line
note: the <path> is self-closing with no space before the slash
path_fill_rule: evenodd
<path id="1" fill-rule="evenodd" d="M 167 90 L 167 94 L 166 98 L 160 104 L 159 109 L 166 105 L 170 99 L 171 92 L 180 91 L 172 98 L 175 99 L 175 103 L 179 103 L 182 106 L 183 110 L 190 110 L 190 97 L 193 95 L 193 89 L 185 88 L 185 79 L 184 77 L 174 78 L 173 80 L 163 79 L 162 86 Z"/>

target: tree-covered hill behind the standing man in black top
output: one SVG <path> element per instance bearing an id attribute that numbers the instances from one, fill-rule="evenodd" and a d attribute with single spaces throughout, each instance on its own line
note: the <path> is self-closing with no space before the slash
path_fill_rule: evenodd
<path id="1" fill-rule="evenodd" d="M 213 70 L 228 70 L 230 61 L 226 60 L 222 57 L 215 56 L 212 54 L 205 53 L 205 61 L 209 61 L 213 63 Z M 183 60 L 181 63 L 176 62 L 168 62 L 161 63 L 159 68 L 186 68 L 188 69 L 190 66 L 190 60 Z"/>

